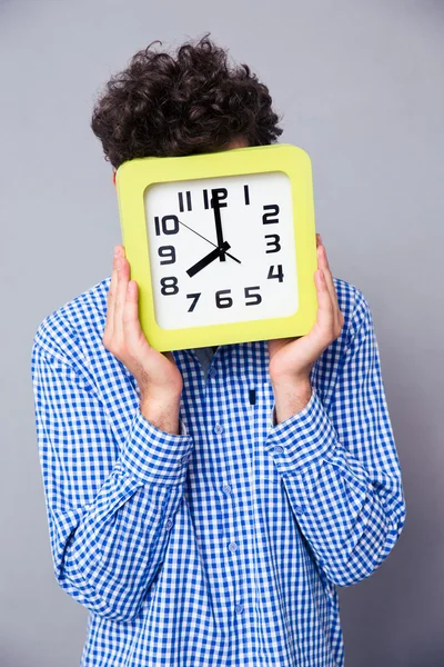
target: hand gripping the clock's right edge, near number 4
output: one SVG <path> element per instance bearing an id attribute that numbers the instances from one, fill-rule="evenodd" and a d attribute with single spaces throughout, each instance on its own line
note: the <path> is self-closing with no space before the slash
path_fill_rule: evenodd
<path id="1" fill-rule="evenodd" d="M 317 270 L 314 282 L 317 291 L 317 319 L 311 331 L 296 338 L 269 340 L 272 384 L 278 387 L 310 385 L 310 372 L 316 359 L 340 336 L 344 316 L 337 303 L 336 290 L 321 236 L 316 233 Z"/>

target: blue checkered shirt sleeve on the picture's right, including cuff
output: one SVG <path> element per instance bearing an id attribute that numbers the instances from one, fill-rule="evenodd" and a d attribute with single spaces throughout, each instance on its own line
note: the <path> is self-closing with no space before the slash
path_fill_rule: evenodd
<path id="1" fill-rule="evenodd" d="M 405 521 L 379 346 L 369 303 L 357 292 L 329 412 L 313 387 L 309 404 L 273 426 L 265 441 L 299 526 L 337 586 L 370 576 Z"/>

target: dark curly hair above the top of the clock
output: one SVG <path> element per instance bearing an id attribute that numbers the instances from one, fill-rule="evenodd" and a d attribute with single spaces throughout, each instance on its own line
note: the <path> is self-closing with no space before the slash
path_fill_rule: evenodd
<path id="1" fill-rule="evenodd" d="M 238 137 L 249 146 L 276 141 L 281 119 L 248 64 L 230 67 L 228 50 L 209 33 L 173 56 L 152 50 L 155 43 L 138 51 L 94 104 L 91 128 L 115 169 L 133 158 L 222 150 Z"/>

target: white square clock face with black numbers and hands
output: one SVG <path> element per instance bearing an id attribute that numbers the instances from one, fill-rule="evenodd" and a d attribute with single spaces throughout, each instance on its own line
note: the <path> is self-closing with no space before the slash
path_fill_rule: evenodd
<path id="1" fill-rule="evenodd" d="M 147 188 L 144 205 L 161 328 L 262 320 L 297 310 L 285 173 L 155 183 Z"/>

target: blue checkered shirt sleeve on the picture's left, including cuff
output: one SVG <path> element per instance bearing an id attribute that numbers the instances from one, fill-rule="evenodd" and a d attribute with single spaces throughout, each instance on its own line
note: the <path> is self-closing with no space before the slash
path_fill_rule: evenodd
<path id="1" fill-rule="evenodd" d="M 163 563 L 193 440 L 139 408 L 112 429 L 82 374 L 37 344 L 31 368 L 57 581 L 99 616 L 132 619 Z"/>

